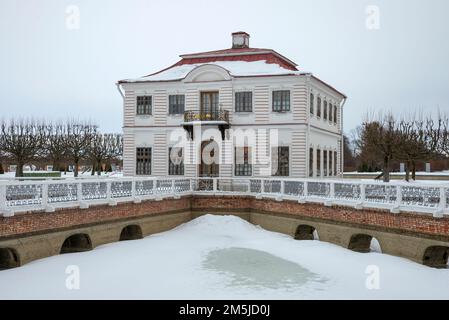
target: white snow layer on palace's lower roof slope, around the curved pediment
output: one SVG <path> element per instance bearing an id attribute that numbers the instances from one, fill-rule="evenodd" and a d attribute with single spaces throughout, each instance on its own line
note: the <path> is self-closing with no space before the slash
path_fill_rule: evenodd
<path id="1" fill-rule="evenodd" d="M 123 82 L 149 82 L 149 81 L 176 81 L 184 79 L 189 72 L 202 65 L 216 65 L 226 69 L 234 77 L 277 76 L 277 75 L 302 75 L 304 71 L 293 71 L 281 67 L 275 63 L 260 61 L 215 61 L 208 63 L 184 64 L 168 68 L 149 76 L 127 79 Z"/>

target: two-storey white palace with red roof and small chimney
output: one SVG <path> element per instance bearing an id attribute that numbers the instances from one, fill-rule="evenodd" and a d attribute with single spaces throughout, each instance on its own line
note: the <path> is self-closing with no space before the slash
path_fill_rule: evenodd
<path id="1" fill-rule="evenodd" d="M 126 176 L 341 174 L 346 96 L 249 38 L 117 83 Z"/>

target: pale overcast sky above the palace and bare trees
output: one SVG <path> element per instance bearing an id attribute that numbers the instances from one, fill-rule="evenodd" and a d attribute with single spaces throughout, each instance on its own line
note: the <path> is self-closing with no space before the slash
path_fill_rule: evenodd
<path id="1" fill-rule="evenodd" d="M 0 117 L 119 132 L 117 80 L 240 30 L 346 93 L 346 132 L 367 111 L 449 111 L 448 14 L 447 0 L 0 0 Z"/>

